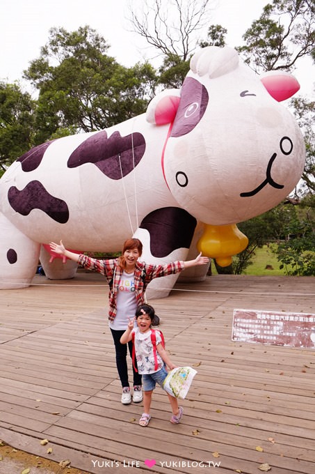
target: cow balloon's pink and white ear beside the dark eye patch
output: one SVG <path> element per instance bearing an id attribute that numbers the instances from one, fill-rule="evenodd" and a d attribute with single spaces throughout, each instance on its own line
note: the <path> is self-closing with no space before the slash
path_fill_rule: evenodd
<path id="1" fill-rule="evenodd" d="M 146 119 L 154 125 L 172 123 L 180 101 L 179 89 L 168 89 L 156 95 L 147 106 Z"/>

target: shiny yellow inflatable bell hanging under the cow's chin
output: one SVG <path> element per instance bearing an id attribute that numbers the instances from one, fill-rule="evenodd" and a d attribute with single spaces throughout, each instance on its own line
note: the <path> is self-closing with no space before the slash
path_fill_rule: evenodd
<path id="1" fill-rule="evenodd" d="M 248 238 L 236 224 L 204 224 L 204 233 L 197 242 L 197 250 L 203 255 L 216 259 L 218 265 L 229 266 L 232 255 L 239 254 L 248 246 Z"/>

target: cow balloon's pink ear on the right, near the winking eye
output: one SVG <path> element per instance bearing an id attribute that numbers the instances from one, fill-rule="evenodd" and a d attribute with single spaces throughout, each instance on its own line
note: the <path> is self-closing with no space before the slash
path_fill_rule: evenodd
<path id="1" fill-rule="evenodd" d="M 268 71 L 260 76 L 268 93 L 278 102 L 289 99 L 300 89 L 296 77 L 285 71 Z"/>

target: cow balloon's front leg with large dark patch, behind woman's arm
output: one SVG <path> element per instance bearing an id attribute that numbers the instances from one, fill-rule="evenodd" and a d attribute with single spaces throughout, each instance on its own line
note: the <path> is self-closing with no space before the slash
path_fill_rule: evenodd
<path id="1" fill-rule="evenodd" d="M 148 214 L 134 234 L 143 243 L 141 260 L 156 265 L 186 260 L 195 231 L 195 217 L 181 208 L 161 208 Z M 179 273 L 156 278 L 147 287 L 147 298 L 169 295 Z"/>

